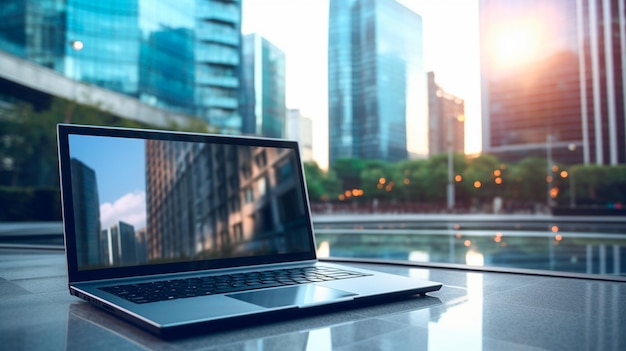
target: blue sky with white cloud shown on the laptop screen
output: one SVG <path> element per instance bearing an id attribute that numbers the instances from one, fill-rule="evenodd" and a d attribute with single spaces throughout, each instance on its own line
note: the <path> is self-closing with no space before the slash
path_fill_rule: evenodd
<path id="1" fill-rule="evenodd" d="M 70 135 L 70 157 L 96 172 L 100 224 L 146 225 L 145 143 L 139 139 Z"/>

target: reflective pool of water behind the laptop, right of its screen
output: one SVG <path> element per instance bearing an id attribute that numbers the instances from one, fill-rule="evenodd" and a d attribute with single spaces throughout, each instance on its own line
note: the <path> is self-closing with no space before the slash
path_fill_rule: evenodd
<path id="1" fill-rule="evenodd" d="M 517 223 L 510 229 L 458 223 L 427 229 L 359 226 L 316 229 L 317 242 L 330 257 L 626 275 L 626 234 L 587 231 L 589 224 L 543 224 L 543 230 L 537 230 L 535 223 Z"/>

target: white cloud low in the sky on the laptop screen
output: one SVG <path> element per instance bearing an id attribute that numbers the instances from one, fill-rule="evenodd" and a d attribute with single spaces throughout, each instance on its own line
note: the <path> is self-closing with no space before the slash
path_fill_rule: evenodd
<path id="1" fill-rule="evenodd" d="M 114 203 L 105 202 L 100 205 L 100 223 L 102 229 L 122 221 L 132 224 L 135 230 L 146 226 L 146 193 L 134 191 L 128 193 Z"/>

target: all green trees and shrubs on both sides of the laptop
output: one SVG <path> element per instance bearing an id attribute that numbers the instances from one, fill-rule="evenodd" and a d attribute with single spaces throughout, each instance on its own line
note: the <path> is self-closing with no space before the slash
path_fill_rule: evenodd
<path id="1" fill-rule="evenodd" d="M 101 106 L 79 105 L 54 98 L 50 107 L 35 111 L 28 105 L 0 110 L 0 220 L 55 220 L 60 216 L 56 155 L 56 125 L 71 122 L 159 129 L 119 118 Z M 170 123 L 165 128 L 193 132 L 217 132 L 203 121 L 186 126 Z M 513 203 L 545 203 L 548 194 L 545 158 L 529 157 L 516 164 L 502 164 L 493 156 L 476 158 L 453 155 L 456 203 L 460 206 L 490 203 L 494 196 Z M 498 175 L 494 171 L 498 171 Z M 553 186 L 559 206 L 571 200 L 580 206 L 609 206 L 626 202 L 626 165 L 559 165 Z M 314 162 L 304 164 L 312 202 L 396 202 L 445 207 L 448 155 L 388 163 L 381 160 L 340 159 L 329 170 Z M 501 178 L 501 179 L 496 179 Z M 479 182 L 480 186 L 475 186 Z M 499 183 L 497 183 L 499 182 Z M 360 192 L 360 193 L 359 193 Z"/>

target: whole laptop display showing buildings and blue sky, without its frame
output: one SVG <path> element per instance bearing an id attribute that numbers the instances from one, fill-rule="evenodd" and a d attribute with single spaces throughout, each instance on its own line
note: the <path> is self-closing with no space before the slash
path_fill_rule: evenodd
<path id="1" fill-rule="evenodd" d="M 308 251 L 293 149 L 70 135 L 78 269 Z"/>

